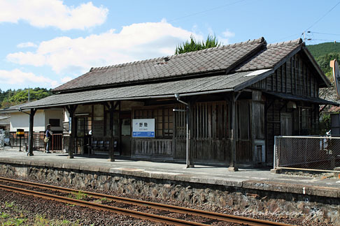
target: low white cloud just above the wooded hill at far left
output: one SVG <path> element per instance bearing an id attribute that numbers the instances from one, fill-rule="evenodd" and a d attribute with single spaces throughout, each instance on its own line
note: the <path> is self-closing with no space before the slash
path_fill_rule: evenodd
<path id="1" fill-rule="evenodd" d="M 0 80 L 2 84 L 22 85 L 36 84 L 37 86 L 57 86 L 58 82 L 50 80 L 47 77 L 34 75 L 34 73 L 25 73 L 19 69 L 0 70 Z"/>

